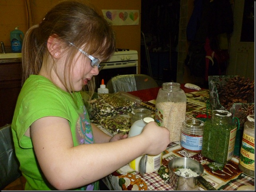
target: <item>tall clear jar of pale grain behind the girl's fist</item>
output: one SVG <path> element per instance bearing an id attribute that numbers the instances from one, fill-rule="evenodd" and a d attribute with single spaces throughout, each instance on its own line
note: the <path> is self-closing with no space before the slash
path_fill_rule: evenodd
<path id="1" fill-rule="evenodd" d="M 170 131 L 170 142 L 180 141 L 180 130 L 186 117 L 186 94 L 179 83 L 163 83 L 155 104 L 155 122 Z"/>

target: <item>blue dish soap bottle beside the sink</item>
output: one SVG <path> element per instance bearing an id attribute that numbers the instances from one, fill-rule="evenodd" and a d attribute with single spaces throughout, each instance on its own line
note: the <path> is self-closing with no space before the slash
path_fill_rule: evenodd
<path id="1" fill-rule="evenodd" d="M 10 32 L 11 48 L 13 53 L 21 53 L 22 41 L 24 34 L 16 27 L 14 31 Z"/>

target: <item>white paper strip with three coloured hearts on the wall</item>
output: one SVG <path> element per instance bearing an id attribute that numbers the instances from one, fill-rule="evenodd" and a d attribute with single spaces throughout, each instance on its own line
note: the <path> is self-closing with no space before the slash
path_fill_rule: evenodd
<path id="1" fill-rule="evenodd" d="M 139 10 L 102 10 L 102 13 L 112 25 L 139 25 Z"/>

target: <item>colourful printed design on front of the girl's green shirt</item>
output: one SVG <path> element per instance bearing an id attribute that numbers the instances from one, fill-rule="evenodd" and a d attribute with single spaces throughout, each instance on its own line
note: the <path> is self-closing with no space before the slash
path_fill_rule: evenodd
<path id="1" fill-rule="evenodd" d="M 79 144 L 90 144 L 93 143 L 93 133 L 91 123 L 89 121 L 89 115 L 83 107 L 83 113 L 79 115 L 77 121 L 77 139 Z"/>

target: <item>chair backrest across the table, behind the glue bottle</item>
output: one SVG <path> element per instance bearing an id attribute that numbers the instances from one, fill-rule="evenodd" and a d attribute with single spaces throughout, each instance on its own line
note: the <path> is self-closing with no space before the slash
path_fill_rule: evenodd
<path id="1" fill-rule="evenodd" d="M 144 74 L 117 75 L 106 84 L 109 93 L 130 92 L 158 86 L 155 79 Z"/>

